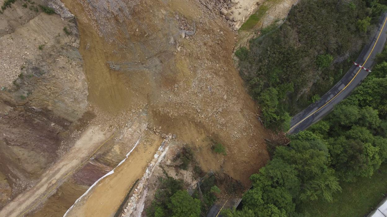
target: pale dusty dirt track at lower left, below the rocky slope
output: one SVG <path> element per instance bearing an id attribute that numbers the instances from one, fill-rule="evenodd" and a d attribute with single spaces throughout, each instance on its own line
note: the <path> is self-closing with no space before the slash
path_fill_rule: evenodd
<path id="1" fill-rule="evenodd" d="M 102 132 L 89 126 L 75 142 L 74 147 L 59 162 L 42 175 L 42 179 L 31 189 L 14 198 L 0 211 L 0 216 L 23 216 L 55 193 L 58 186 L 82 166 L 102 145 L 110 140 L 114 132 Z"/>

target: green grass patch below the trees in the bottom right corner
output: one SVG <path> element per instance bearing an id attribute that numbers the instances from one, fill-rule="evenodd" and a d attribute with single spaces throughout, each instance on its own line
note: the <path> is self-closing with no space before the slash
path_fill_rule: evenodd
<path id="1" fill-rule="evenodd" d="M 359 178 L 354 183 L 340 183 L 342 192 L 333 196 L 333 202 L 315 201 L 300 206 L 301 212 L 313 217 L 363 217 L 376 208 L 387 194 L 387 164 L 371 178 Z"/>

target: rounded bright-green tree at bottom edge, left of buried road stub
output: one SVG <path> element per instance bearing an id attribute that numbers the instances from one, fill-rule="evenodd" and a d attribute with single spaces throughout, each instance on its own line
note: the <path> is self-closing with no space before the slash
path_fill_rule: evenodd
<path id="1" fill-rule="evenodd" d="M 192 198 L 188 191 L 178 190 L 171 196 L 168 208 L 172 210 L 172 217 L 199 217 L 200 200 Z"/>

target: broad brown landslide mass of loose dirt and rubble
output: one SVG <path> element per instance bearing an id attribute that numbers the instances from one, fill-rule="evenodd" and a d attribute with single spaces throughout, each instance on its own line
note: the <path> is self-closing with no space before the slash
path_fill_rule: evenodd
<path id="1" fill-rule="evenodd" d="M 247 174 L 265 163 L 267 136 L 233 66 L 235 35 L 223 19 L 192 0 L 64 2 L 79 19 L 88 80 L 91 73 L 119 78 L 105 79 L 103 87 L 120 92 L 115 95 L 120 99 L 106 103 L 106 94 L 90 87 L 92 103 L 115 108 L 147 103 L 151 123 L 192 144 L 205 169 L 223 168 L 245 183 Z M 208 138 L 226 145 L 228 155 L 220 162 L 209 153 Z"/>

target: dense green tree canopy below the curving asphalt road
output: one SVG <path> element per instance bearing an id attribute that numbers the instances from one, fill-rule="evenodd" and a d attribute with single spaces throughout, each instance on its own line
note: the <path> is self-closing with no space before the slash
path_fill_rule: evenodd
<path id="1" fill-rule="evenodd" d="M 365 82 L 329 116 L 292 136 L 289 147 L 277 147 L 272 160 L 250 177 L 253 189 L 243 195 L 243 210 L 227 210 L 224 216 L 315 216 L 300 207 L 332 202 L 340 196 L 335 194 L 341 191 L 339 181 L 366 183 L 364 178 L 387 160 L 386 61 L 385 50 Z M 369 208 L 363 204 L 358 215 Z"/>

